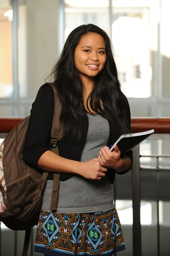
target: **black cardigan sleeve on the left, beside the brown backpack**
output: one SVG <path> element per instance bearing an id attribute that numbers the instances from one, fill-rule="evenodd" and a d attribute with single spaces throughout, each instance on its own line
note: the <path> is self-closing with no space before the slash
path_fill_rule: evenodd
<path id="1" fill-rule="evenodd" d="M 54 91 L 50 84 L 43 84 L 32 104 L 23 149 L 24 161 L 35 169 L 42 154 L 49 150 L 53 115 Z"/>

